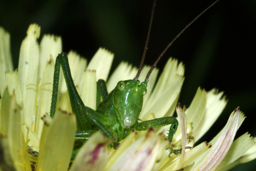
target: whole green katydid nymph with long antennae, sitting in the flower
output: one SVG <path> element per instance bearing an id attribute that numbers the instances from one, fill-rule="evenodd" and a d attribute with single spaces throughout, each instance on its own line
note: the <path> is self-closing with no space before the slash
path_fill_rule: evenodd
<path id="1" fill-rule="evenodd" d="M 217 0 L 218 1 L 218 0 Z M 216 1 L 216 2 L 217 2 Z M 212 5 L 214 5 L 214 2 Z M 96 111 L 85 106 L 77 93 L 75 84 L 73 82 L 70 68 L 68 64 L 68 56 L 62 52 L 56 58 L 54 79 L 53 79 L 53 90 L 52 90 L 52 104 L 51 104 L 51 117 L 54 117 L 56 110 L 60 66 L 62 67 L 65 81 L 68 87 L 69 99 L 73 113 L 76 114 L 77 131 L 76 131 L 76 143 L 74 148 L 74 155 L 79 150 L 84 141 L 93 133 L 102 131 L 108 138 L 114 139 L 111 146 L 114 148 L 118 147 L 118 142 L 130 134 L 132 129 L 142 131 L 148 130 L 149 127 L 156 128 L 165 125 L 171 125 L 167 138 L 172 141 L 172 137 L 178 128 L 178 121 L 175 117 L 163 117 L 153 120 L 147 120 L 138 122 L 140 112 L 143 106 L 143 96 L 147 93 L 148 78 L 156 67 L 156 64 L 163 56 L 165 51 L 172 45 L 172 43 L 187 29 L 199 16 L 201 16 L 206 10 L 212 5 L 201 12 L 193 21 L 191 21 L 173 40 L 164 51 L 157 58 L 156 62 L 148 71 L 148 74 L 144 82 L 138 80 L 145 54 L 147 51 L 147 44 L 149 39 L 150 28 L 153 19 L 153 13 L 155 8 L 155 2 L 152 9 L 151 21 L 148 30 L 148 36 L 144 53 L 141 59 L 140 67 L 137 75 L 133 80 L 125 80 L 117 83 L 116 87 L 108 94 L 106 83 L 104 80 L 97 82 L 97 98 L 96 105 L 98 106 Z M 103 99 L 102 101 L 100 99 Z M 74 156 L 73 156 L 74 157 Z"/>

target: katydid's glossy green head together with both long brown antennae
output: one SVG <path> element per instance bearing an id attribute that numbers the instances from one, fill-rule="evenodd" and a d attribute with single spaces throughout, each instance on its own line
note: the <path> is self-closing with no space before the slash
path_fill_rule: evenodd
<path id="1" fill-rule="evenodd" d="M 193 19 L 181 32 L 167 45 L 167 47 L 164 49 L 164 51 L 159 55 L 159 57 L 156 59 L 155 63 L 151 66 L 150 70 L 148 71 L 148 74 L 145 78 L 144 82 L 141 82 L 138 80 L 140 76 L 140 72 L 143 67 L 144 59 L 146 56 L 146 51 L 148 49 L 148 40 L 149 40 L 149 34 L 151 30 L 152 20 L 153 20 L 153 14 L 154 9 L 156 6 L 156 0 L 153 4 L 153 9 L 151 12 L 151 19 L 148 29 L 148 35 L 147 35 L 147 41 L 144 47 L 144 52 L 141 58 L 140 67 L 138 69 L 138 73 L 134 77 L 133 80 L 126 80 L 126 81 L 120 81 L 117 83 L 116 88 L 113 90 L 113 104 L 114 107 L 118 110 L 118 113 L 121 117 L 121 120 L 124 122 L 124 125 L 126 128 L 129 128 L 133 126 L 140 115 L 140 111 L 142 109 L 143 104 L 143 96 L 147 92 L 147 85 L 148 85 L 148 79 L 150 74 L 152 73 L 153 69 L 156 67 L 156 64 L 158 61 L 162 58 L 164 53 L 167 51 L 167 49 L 172 45 L 172 43 L 198 18 L 200 17 L 205 11 L 207 11 L 210 7 L 212 7 L 214 4 L 216 4 L 219 0 L 216 0 L 213 4 L 211 4 L 208 8 L 206 8 L 203 12 L 201 12 L 198 16 L 196 16 L 195 19 Z"/>

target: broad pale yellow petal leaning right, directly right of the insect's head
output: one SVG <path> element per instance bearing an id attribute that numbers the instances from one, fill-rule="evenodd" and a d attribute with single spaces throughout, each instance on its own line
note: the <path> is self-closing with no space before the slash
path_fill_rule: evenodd
<path id="1" fill-rule="evenodd" d="M 173 114 L 176 107 L 174 102 L 178 100 L 184 81 L 184 70 L 183 72 L 180 71 L 182 70 L 180 68 L 183 67 L 182 63 L 178 65 L 176 59 L 170 58 L 167 61 L 148 102 L 143 104 L 140 119 L 144 120 L 150 113 L 154 113 L 156 118 Z"/>

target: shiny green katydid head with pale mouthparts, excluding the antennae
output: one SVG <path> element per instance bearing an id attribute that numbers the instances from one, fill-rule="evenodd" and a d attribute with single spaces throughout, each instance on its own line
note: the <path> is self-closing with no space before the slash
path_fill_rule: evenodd
<path id="1" fill-rule="evenodd" d="M 126 128 L 134 125 L 140 115 L 143 96 L 147 93 L 148 82 L 125 80 L 117 83 L 113 92 L 113 105 L 118 110 Z"/>

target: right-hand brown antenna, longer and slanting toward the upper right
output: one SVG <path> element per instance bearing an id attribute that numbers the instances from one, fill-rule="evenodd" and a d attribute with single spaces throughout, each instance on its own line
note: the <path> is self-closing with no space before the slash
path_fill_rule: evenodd
<path id="1" fill-rule="evenodd" d="M 216 0 L 214 3 L 212 3 L 210 6 L 208 6 L 203 12 L 201 12 L 198 16 L 196 16 L 195 19 L 193 19 L 185 28 L 183 28 L 183 30 L 181 30 L 181 32 L 176 35 L 176 37 L 174 37 L 174 39 L 172 40 L 172 42 L 170 42 L 168 44 L 168 46 L 164 49 L 164 51 L 159 55 L 159 57 L 156 59 L 156 62 L 151 66 L 150 70 L 148 71 L 148 74 L 145 78 L 145 82 L 148 82 L 148 78 L 150 76 L 150 74 L 152 73 L 153 69 L 156 67 L 156 64 L 158 63 L 158 61 L 162 58 L 162 56 L 164 55 L 164 53 L 167 51 L 167 49 L 172 45 L 172 43 L 196 20 L 198 19 L 198 17 L 200 17 L 204 12 L 206 12 L 209 8 L 211 8 L 214 4 L 216 4 L 219 0 Z"/>

